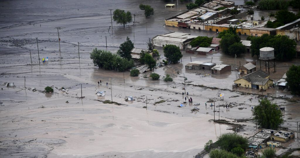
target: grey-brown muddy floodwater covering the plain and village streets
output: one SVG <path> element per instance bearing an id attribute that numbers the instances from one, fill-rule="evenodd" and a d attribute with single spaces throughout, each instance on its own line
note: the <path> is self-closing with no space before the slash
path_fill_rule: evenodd
<path id="1" fill-rule="evenodd" d="M 138 7 L 140 3 L 151 5 L 155 14 L 145 18 Z M 184 67 L 190 61 L 212 61 L 232 67 L 234 63 L 238 67 L 239 61 L 258 63 L 257 57 L 249 53 L 235 62 L 221 51 L 209 56 L 182 51 L 178 64 L 152 70 L 161 76 L 156 81 L 149 78 L 151 72 L 137 77 L 124 72 L 123 77 L 121 72 L 94 66 L 89 54 L 92 49 L 116 53 L 127 36 L 136 48 L 147 48 L 146 40 L 158 34 L 176 31 L 206 35 L 198 30 L 164 26 L 164 19 L 186 11 L 180 2 L 176 8 L 164 5 L 163 1 L 154 0 L 1 1 L 0 157 L 193 157 L 208 140 L 216 141 L 221 134 L 237 131 L 249 137 L 258 132 L 253 121 L 240 120 L 253 117 L 251 106 L 259 104 L 258 94 L 262 92 L 232 89 L 234 80 L 241 77 L 236 71 L 218 75 Z M 109 9 L 117 8 L 135 14 L 135 26 L 129 23 L 123 28 L 113 22 L 112 32 Z M 157 49 L 161 61 L 164 53 L 162 48 Z M 40 60 L 39 64 L 38 55 L 49 60 Z M 277 63 L 277 72 L 271 71 L 271 79 L 280 79 L 295 63 L 299 60 Z M 162 80 L 166 74 L 171 75 L 173 82 Z M 7 87 L 7 82 L 15 86 Z M 46 86 L 52 86 L 54 92 L 44 93 Z M 62 87 L 67 91 L 62 91 Z M 97 96 L 97 91 L 105 91 L 105 95 Z M 183 96 L 184 91 L 189 95 Z M 218 97 L 220 93 L 224 93 L 224 99 Z M 298 99 L 282 89 L 276 94 L 274 88 L 264 92 L 273 103 L 285 107 L 283 126 L 297 132 L 299 103 L 278 98 L 283 94 Z M 126 101 L 129 96 L 134 100 Z M 184 97 L 193 98 L 193 103 L 178 107 Z M 106 100 L 119 104 L 104 104 Z M 223 104 L 232 107 L 227 109 Z M 199 110 L 191 111 L 194 107 Z M 244 128 L 237 130 L 211 121 L 219 118 Z M 295 142 L 297 146 L 298 141 Z"/>

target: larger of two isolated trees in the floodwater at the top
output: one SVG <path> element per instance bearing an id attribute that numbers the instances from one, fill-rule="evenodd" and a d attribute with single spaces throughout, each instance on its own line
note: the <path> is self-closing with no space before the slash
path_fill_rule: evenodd
<path id="1" fill-rule="evenodd" d="M 131 12 L 125 12 L 124 10 L 116 9 L 113 12 L 113 20 L 117 23 L 123 24 L 123 27 L 125 28 L 125 24 L 132 21 Z"/>

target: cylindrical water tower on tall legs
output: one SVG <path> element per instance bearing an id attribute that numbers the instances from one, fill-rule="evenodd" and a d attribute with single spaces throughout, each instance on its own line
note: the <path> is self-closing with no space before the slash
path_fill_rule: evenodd
<path id="1" fill-rule="evenodd" d="M 261 65 L 261 61 L 265 61 L 265 65 Z M 268 73 L 270 74 L 270 68 L 274 67 L 274 72 L 276 72 L 276 63 L 274 56 L 274 48 L 264 47 L 259 49 L 259 66 L 260 69 L 265 67 L 265 71 L 267 72 L 267 63 L 268 63 Z M 270 67 L 271 63 L 271 67 Z"/>

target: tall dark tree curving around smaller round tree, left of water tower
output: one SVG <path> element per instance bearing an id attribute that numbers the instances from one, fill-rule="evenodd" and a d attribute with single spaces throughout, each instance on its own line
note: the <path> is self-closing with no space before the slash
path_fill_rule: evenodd
<path id="1" fill-rule="evenodd" d="M 241 38 L 238 37 L 238 35 L 234 35 L 232 33 L 226 33 L 223 38 L 220 40 L 220 47 L 222 48 L 222 51 L 225 54 L 229 54 L 229 55 L 234 55 L 234 54 L 230 54 L 229 52 L 229 46 L 233 45 L 236 42 L 240 42 Z"/>

